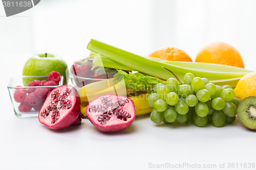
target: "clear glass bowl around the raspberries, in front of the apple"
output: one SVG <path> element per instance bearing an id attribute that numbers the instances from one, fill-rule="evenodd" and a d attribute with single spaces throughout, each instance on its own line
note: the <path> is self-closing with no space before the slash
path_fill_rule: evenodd
<path id="1" fill-rule="evenodd" d="M 32 108 L 28 112 L 19 111 L 18 107 L 19 107 L 20 103 L 16 102 L 14 100 L 14 96 L 13 96 L 16 89 L 23 89 L 23 90 L 28 91 L 28 90 L 32 90 L 32 89 L 36 90 L 37 88 L 47 88 L 48 91 L 50 91 L 53 88 L 56 88 L 58 86 L 63 85 L 64 77 L 60 76 L 60 82 L 57 86 L 34 86 L 34 87 L 24 86 L 24 84 L 27 84 L 28 82 L 31 82 L 33 80 L 40 80 L 40 81 L 46 80 L 46 81 L 48 81 L 48 76 L 16 76 L 16 77 L 11 78 L 11 80 L 10 80 L 8 86 L 7 86 L 8 90 L 9 90 L 9 94 L 10 94 L 10 98 L 11 98 L 14 113 L 18 117 L 37 117 L 40 109 L 35 110 L 34 108 Z M 17 86 L 22 86 L 22 87 L 17 87 Z M 44 102 L 45 101 L 41 101 L 41 103 L 44 103 Z"/>

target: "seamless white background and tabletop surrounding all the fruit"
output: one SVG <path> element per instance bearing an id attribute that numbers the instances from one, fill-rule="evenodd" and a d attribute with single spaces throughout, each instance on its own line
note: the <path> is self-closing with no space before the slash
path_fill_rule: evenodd
<path id="1" fill-rule="evenodd" d="M 52 131 L 37 118 L 16 117 L 7 90 L 33 54 L 55 53 L 70 66 L 88 55 L 91 38 L 140 55 L 175 46 L 194 61 L 204 45 L 221 41 L 255 70 L 255 8 L 256 1 L 42 0 L 7 18 L 0 5 L 1 169 L 153 169 L 148 163 L 217 164 L 215 169 L 225 163 L 227 169 L 227 163 L 256 163 L 255 131 L 239 120 L 198 128 L 156 125 L 144 115 L 114 134 L 98 131 L 89 120 Z"/>

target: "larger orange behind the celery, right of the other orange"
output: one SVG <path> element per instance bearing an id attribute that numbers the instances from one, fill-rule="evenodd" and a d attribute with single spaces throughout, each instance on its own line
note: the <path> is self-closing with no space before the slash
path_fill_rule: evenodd
<path id="1" fill-rule="evenodd" d="M 215 63 L 244 68 L 244 62 L 238 51 L 223 42 L 206 45 L 198 53 L 196 62 Z"/>

